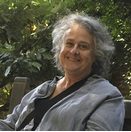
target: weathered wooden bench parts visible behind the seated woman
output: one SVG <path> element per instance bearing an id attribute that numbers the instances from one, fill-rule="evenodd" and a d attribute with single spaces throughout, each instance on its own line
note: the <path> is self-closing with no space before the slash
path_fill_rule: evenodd
<path id="1" fill-rule="evenodd" d="M 27 77 L 16 77 L 11 93 L 9 112 L 11 113 L 14 107 L 20 103 L 24 94 L 30 91 L 30 79 Z M 124 131 L 131 130 L 131 100 L 124 100 L 125 103 L 125 122 Z"/>

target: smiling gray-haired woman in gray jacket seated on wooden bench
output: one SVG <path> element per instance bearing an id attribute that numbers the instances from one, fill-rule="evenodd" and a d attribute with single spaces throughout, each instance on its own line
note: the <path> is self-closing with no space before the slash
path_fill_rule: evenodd
<path id="1" fill-rule="evenodd" d="M 106 28 L 92 17 L 71 14 L 55 24 L 52 37 L 63 76 L 25 95 L 0 121 L 0 130 L 122 130 L 123 97 L 105 79 L 114 52 Z"/>

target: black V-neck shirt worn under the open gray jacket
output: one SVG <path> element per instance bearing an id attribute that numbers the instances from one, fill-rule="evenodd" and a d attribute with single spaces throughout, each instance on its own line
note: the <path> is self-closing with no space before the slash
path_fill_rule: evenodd
<path id="1" fill-rule="evenodd" d="M 35 130 L 39 123 L 41 122 L 42 117 L 44 114 L 58 101 L 62 100 L 64 97 L 68 96 L 69 94 L 73 93 L 74 91 L 78 90 L 86 81 L 87 78 L 76 82 L 68 89 L 57 95 L 56 97 L 50 99 L 48 98 L 37 98 L 35 100 L 35 111 L 34 111 L 34 127 L 32 130 Z"/>

